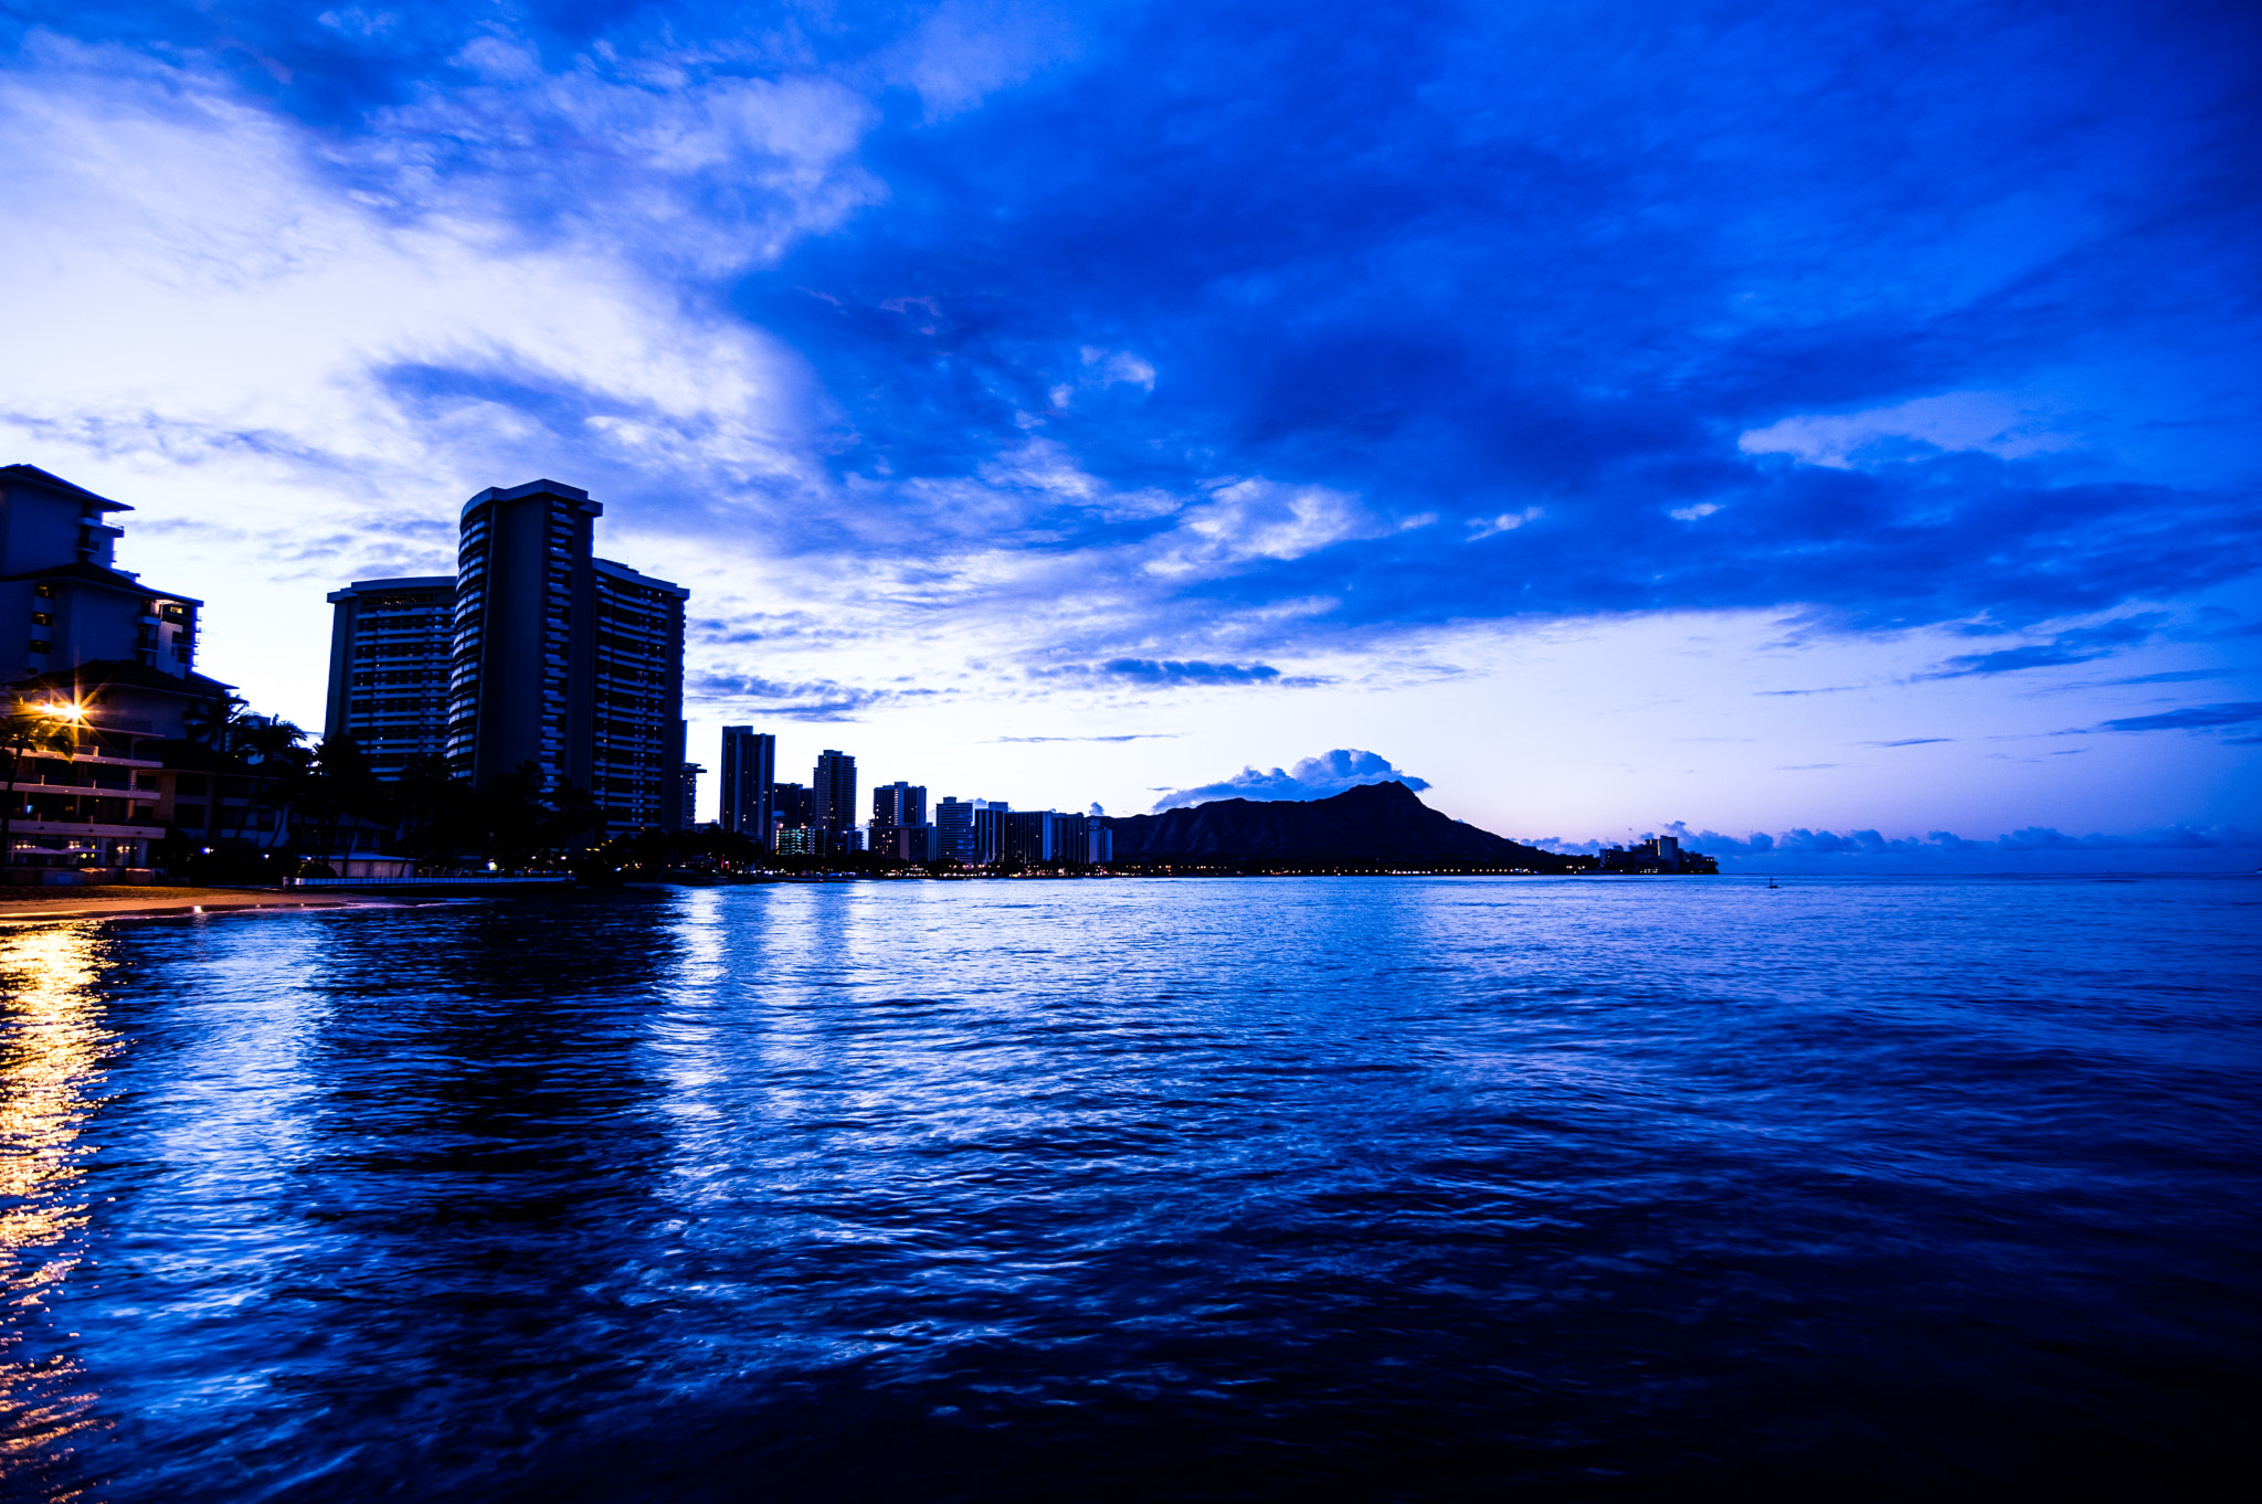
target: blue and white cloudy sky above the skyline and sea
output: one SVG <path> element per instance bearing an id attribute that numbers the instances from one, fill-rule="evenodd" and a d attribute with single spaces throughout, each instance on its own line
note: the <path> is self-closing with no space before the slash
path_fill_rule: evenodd
<path id="1" fill-rule="evenodd" d="M 710 767 L 2251 871 L 2257 75 L 2174 0 L 5 0 L 0 459 L 308 726 L 323 595 L 550 477 Z"/>

